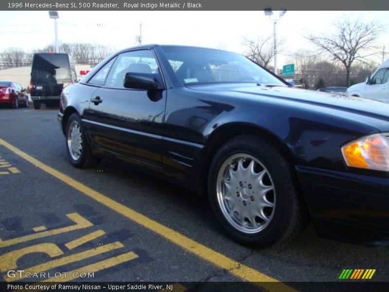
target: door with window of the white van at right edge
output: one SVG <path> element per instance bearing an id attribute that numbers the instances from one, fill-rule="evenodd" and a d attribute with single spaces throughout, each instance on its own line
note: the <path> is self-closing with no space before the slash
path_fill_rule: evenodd
<path id="1" fill-rule="evenodd" d="M 371 83 L 365 87 L 363 97 L 389 102 L 388 88 L 389 88 L 389 68 L 381 68 L 371 78 Z"/>

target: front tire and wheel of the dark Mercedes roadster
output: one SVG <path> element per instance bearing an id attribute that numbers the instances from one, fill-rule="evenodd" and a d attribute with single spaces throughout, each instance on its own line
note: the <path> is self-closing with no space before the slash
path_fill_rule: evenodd
<path id="1" fill-rule="evenodd" d="M 235 241 L 265 248 L 301 230 L 293 168 L 266 140 L 229 140 L 214 156 L 208 182 L 212 211 Z"/>

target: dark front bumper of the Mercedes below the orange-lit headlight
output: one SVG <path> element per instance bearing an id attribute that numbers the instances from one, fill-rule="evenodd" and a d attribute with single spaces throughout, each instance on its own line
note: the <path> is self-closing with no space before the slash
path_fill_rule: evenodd
<path id="1" fill-rule="evenodd" d="M 389 177 L 296 166 L 318 235 L 389 245 Z"/>

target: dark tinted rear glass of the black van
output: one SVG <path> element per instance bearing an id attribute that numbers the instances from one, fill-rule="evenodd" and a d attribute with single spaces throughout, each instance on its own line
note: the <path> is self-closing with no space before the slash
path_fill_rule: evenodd
<path id="1" fill-rule="evenodd" d="M 32 78 L 39 81 L 64 83 L 71 81 L 67 54 L 35 54 Z"/>

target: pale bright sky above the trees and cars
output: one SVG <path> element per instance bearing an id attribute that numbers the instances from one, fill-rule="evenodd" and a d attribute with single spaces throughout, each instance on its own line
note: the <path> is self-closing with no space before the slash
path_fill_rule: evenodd
<path id="1" fill-rule="evenodd" d="M 244 38 L 273 35 L 273 22 L 263 11 L 59 11 L 59 42 L 90 42 L 121 50 L 135 45 L 142 23 L 143 44 L 179 44 L 243 53 Z M 275 11 L 275 14 L 277 12 Z M 378 21 L 384 33 L 377 44 L 389 52 L 388 11 L 287 11 L 277 23 L 277 38 L 286 50 L 278 67 L 300 49 L 314 50 L 308 34 L 331 33 L 333 24 L 348 17 Z M 54 43 L 48 11 L 0 11 L 0 51 L 19 47 L 26 52 Z M 387 53 L 386 58 L 389 57 Z M 381 63 L 382 56 L 374 61 Z"/>

